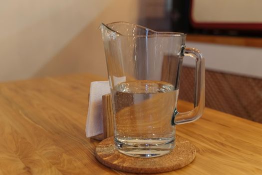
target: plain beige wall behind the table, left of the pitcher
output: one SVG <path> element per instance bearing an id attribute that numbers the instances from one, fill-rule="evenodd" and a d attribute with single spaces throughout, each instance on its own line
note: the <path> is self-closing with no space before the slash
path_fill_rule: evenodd
<path id="1" fill-rule="evenodd" d="M 0 81 L 72 72 L 106 75 L 101 22 L 137 22 L 138 0 L 6 0 Z"/>

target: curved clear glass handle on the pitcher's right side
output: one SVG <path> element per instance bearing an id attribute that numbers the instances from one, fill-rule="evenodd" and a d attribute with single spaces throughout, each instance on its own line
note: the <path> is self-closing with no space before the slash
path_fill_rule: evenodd
<path id="1" fill-rule="evenodd" d="M 184 55 L 196 60 L 194 109 L 187 112 L 174 112 L 174 124 L 183 124 L 197 120 L 205 108 L 205 59 L 196 48 L 184 48 Z"/>

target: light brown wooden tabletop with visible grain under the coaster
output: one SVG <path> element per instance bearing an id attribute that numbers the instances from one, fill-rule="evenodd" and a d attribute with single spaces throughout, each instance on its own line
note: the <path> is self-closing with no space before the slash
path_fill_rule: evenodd
<path id="1" fill-rule="evenodd" d="M 0 174 L 127 174 L 100 164 L 85 137 L 88 92 L 78 74 L 0 83 Z M 214 99 L 215 100 L 215 99 Z M 180 101 L 179 109 L 190 103 Z M 262 124 L 210 108 L 177 126 L 195 160 L 166 174 L 262 174 Z"/>

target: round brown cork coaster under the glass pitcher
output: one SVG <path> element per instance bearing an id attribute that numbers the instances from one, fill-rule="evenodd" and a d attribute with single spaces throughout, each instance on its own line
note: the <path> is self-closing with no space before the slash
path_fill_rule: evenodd
<path id="1" fill-rule="evenodd" d="M 114 137 L 101 141 L 95 150 L 96 158 L 105 166 L 133 173 L 159 173 L 179 169 L 191 163 L 196 156 L 195 146 L 176 136 L 176 146 L 167 155 L 154 158 L 132 157 L 115 149 Z"/>

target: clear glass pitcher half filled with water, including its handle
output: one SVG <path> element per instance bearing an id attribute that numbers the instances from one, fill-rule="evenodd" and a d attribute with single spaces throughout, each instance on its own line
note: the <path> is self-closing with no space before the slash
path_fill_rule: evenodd
<path id="1" fill-rule="evenodd" d="M 185 46 L 186 34 L 128 23 L 101 24 L 118 151 L 136 157 L 167 154 L 175 126 L 198 119 L 205 106 L 205 64 Z M 196 61 L 194 109 L 177 111 L 184 56 Z"/>

